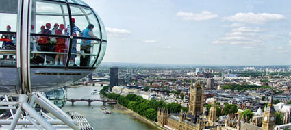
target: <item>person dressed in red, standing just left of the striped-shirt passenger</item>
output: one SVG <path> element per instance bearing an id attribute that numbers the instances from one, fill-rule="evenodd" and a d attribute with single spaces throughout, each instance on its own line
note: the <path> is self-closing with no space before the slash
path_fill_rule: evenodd
<path id="1" fill-rule="evenodd" d="M 55 35 L 62 35 L 62 31 L 64 30 L 64 24 L 60 24 L 60 28 L 55 30 Z M 57 40 L 57 44 L 55 47 L 55 52 L 57 53 L 64 53 L 64 49 L 65 49 L 65 40 L 64 38 L 56 38 Z M 64 65 L 63 64 L 63 54 L 57 54 L 55 55 L 55 66 L 58 65 L 58 60 L 60 58 L 60 65 Z"/>

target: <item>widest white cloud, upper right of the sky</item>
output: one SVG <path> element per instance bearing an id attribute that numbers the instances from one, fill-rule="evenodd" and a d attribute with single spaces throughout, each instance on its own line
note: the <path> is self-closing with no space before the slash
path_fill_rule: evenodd
<path id="1" fill-rule="evenodd" d="M 262 24 L 270 21 L 279 21 L 284 18 L 285 16 L 283 16 L 282 14 L 270 14 L 270 13 L 254 14 L 253 12 L 248 13 L 239 12 L 236 13 L 235 15 L 228 16 L 223 19 L 231 22 Z"/>

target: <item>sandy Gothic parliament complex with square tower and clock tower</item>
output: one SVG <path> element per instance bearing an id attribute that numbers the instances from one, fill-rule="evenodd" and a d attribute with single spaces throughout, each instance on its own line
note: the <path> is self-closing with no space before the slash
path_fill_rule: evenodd
<path id="1" fill-rule="evenodd" d="M 273 96 L 268 101 L 263 119 L 260 123 L 248 123 L 240 120 L 240 114 L 229 116 L 225 122 L 218 122 L 216 117 L 215 99 L 209 111 L 203 111 L 204 85 L 197 81 L 191 83 L 189 112 L 181 111 L 179 114 L 170 114 L 166 109 L 157 112 L 157 124 L 166 129 L 175 130 L 274 130 L 275 109 L 273 107 Z"/>

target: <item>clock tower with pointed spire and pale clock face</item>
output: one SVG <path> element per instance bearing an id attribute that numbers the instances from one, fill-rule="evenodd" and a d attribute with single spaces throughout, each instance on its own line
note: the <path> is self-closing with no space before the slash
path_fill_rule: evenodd
<path id="1" fill-rule="evenodd" d="M 266 107 L 263 114 L 262 130 L 274 130 L 275 127 L 275 109 L 273 106 L 273 95 L 270 96 L 268 107 Z"/>

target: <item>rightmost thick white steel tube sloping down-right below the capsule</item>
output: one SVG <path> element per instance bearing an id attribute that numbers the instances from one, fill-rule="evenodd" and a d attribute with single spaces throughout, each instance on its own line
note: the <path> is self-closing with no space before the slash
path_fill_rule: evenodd
<path id="1" fill-rule="evenodd" d="M 50 105 L 48 105 L 42 99 L 38 99 L 37 98 L 36 99 L 36 103 L 38 103 L 38 105 L 40 105 L 41 107 L 43 107 L 44 109 L 46 109 L 48 112 L 50 112 L 51 114 L 53 114 L 53 116 L 55 116 L 56 118 L 59 118 L 60 120 L 62 120 L 62 122 L 64 122 L 66 125 L 68 125 L 72 129 L 75 129 L 75 130 L 79 130 L 80 129 L 75 124 L 73 124 L 73 122 L 70 122 L 67 118 L 65 118 L 62 114 L 60 114 L 58 111 L 55 111 L 55 109 L 53 109 L 53 107 L 51 107 Z"/>

